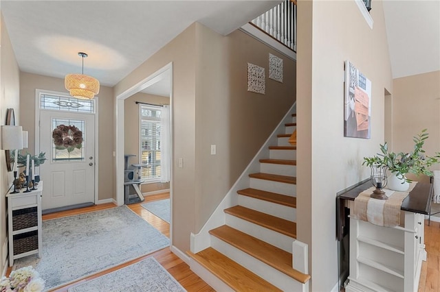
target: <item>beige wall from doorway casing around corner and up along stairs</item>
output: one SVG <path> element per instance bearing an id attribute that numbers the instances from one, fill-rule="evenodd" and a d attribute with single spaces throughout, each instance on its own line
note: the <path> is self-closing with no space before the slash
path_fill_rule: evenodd
<path id="1" fill-rule="evenodd" d="M 173 244 L 183 252 L 294 103 L 294 62 L 283 56 L 283 84 L 266 78 L 265 95 L 247 91 L 247 62 L 267 76 L 269 52 L 280 56 L 243 32 L 195 23 L 115 86 L 118 96 L 173 62 Z"/>

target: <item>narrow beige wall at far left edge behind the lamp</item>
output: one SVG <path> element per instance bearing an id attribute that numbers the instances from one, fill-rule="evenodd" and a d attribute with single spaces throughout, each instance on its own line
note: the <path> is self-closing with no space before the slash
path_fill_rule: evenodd
<path id="1" fill-rule="evenodd" d="M 21 125 L 22 114 L 19 110 L 20 104 L 20 72 L 17 60 L 12 51 L 12 45 L 7 28 L 3 21 L 3 14 L 0 12 L 0 125 L 5 125 L 6 110 L 14 109 L 16 125 Z M 1 135 L 0 135 L 1 139 Z M 6 242 L 6 198 L 5 194 L 12 186 L 12 171 L 8 172 L 5 165 L 5 151 L 0 150 L 0 274 L 3 273 L 6 263 L 8 245 Z"/>

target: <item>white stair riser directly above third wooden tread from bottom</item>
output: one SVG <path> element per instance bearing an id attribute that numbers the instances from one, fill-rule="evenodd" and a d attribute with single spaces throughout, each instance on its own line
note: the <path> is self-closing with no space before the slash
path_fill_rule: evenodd
<path id="1" fill-rule="evenodd" d="M 245 195 L 239 195 L 239 205 L 275 217 L 296 222 L 296 209 L 292 207 L 267 202 L 262 199 L 255 199 Z"/>

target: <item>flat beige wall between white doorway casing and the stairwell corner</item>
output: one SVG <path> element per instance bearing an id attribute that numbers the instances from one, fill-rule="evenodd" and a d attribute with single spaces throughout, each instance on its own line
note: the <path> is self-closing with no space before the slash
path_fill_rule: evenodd
<path id="1" fill-rule="evenodd" d="M 195 226 L 195 56 L 193 24 L 114 87 L 117 97 L 173 62 L 173 244 L 184 252 Z"/>

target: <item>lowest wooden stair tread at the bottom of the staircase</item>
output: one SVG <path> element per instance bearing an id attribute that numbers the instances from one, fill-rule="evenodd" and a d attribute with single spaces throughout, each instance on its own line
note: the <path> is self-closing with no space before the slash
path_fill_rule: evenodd
<path id="1" fill-rule="evenodd" d="M 281 291 L 212 247 L 197 254 L 187 254 L 235 291 Z"/>

